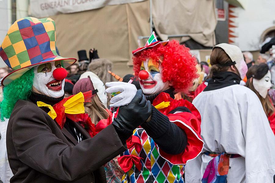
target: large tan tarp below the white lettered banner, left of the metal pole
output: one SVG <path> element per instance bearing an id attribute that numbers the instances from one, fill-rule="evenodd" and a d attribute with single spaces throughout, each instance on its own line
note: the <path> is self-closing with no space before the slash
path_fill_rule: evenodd
<path id="1" fill-rule="evenodd" d="M 132 72 L 126 63 L 132 58 L 132 50 L 138 48 L 137 37 L 150 34 L 149 1 L 105 6 L 51 18 L 56 23 L 57 48 L 61 56 L 78 58 L 78 50 L 88 52 L 90 48 L 96 48 L 99 56 L 113 61 L 115 67 L 125 66 L 122 75 Z M 144 45 L 145 41 L 141 44 Z"/>

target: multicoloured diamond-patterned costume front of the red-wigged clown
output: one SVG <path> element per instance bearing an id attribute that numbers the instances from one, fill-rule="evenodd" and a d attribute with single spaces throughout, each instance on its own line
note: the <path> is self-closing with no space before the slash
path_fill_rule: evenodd
<path id="1" fill-rule="evenodd" d="M 158 153 L 155 142 L 149 137 L 143 128 L 137 128 L 133 135 L 141 140 L 142 149 L 139 153 L 132 147 L 127 149 L 123 155 L 136 155 L 142 157 L 142 168 L 139 171 L 134 165 L 123 175 L 122 183 L 184 183 L 183 165 L 173 165 L 163 159 Z"/>

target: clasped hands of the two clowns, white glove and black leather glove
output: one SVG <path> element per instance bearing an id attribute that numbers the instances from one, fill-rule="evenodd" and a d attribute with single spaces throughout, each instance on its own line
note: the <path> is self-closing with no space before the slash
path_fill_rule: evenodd
<path id="1" fill-rule="evenodd" d="M 125 82 L 108 82 L 105 84 L 107 93 L 120 91 L 118 95 L 111 100 L 110 107 L 118 107 L 119 111 L 114 118 L 113 125 L 134 131 L 139 125 L 143 124 L 151 116 L 151 102 L 147 101 L 142 90 L 135 87 L 134 84 Z"/>

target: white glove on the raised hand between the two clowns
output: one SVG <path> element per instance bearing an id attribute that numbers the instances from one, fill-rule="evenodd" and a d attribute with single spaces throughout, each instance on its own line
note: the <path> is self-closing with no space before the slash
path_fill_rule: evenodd
<path id="1" fill-rule="evenodd" d="M 113 93 L 117 91 L 121 92 L 118 95 L 112 97 L 110 100 L 110 103 L 112 103 L 110 107 L 125 106 L 129 104 L 138 91 L 134 84 L 120 81 L 108 82 L 105 83 L 105 85 L 109 87 L 105 90 L 106 93 Z"/>

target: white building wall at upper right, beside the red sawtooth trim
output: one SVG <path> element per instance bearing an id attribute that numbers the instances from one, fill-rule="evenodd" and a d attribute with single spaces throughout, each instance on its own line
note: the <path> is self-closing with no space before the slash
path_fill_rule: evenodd
<path id="1" fill-rule="evenodd" d="M 274 26 L 275 23 L 274 0 L 249 0 L 245 9 L 234 8 L 233 18 L 234 44 L 242 51 L 259 50 L 260 37 L 264 30 Z"/>

